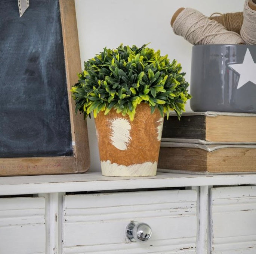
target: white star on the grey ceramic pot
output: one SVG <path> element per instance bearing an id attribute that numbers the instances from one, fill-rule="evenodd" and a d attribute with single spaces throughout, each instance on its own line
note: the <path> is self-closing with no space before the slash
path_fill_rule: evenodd
<path id="1" fill-rule="evenodd" d="M 243 63 L 235 63 L 228 66 L 240 74 L 237 89 L 243 87 L 249 81 L 256 85 L 256 63 L 253 61 L 249 48 L 246 50 Z"/>

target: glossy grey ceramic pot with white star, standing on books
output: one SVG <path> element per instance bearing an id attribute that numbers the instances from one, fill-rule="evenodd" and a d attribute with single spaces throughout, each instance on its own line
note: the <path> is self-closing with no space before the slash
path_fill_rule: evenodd
<path id="1" fill-rule="evenodd" d="M 256 113 L 256 46 L 193 46 L 190 93 L 193 111 Z"/>

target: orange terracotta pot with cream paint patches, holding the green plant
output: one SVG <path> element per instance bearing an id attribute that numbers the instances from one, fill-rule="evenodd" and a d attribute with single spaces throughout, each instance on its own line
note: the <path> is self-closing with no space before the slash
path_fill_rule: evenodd
<path id="1" fill-rule="evenodd" d="M 95 118 L 101 171 L 104 176 L 154 176 L 163 129 L 163 117 L 148 104 L 136 108 L 135 119 L 111 110 Z"/>

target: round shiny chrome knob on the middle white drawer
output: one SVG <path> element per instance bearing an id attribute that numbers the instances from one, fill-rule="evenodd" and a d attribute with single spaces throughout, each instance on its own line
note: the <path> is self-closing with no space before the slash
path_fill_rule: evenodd
<path id="1" fill-rule="evenodd" d="M 130 222 L 126 227 L 126 236 L 132 242 L 144 242 L 152 235 L 151 228 L 146 223 Z"/>

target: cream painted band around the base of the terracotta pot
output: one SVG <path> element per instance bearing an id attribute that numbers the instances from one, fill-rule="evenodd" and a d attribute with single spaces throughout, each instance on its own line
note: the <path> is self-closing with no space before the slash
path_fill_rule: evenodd
<path id="1" fill-rule="evenodd" d="M 110 160 L 101 162 L 101 172 L 104 176 L 155 176 L 157 162 L 144 162 L 130 166 L 111 163 Z"/>

